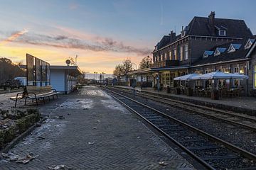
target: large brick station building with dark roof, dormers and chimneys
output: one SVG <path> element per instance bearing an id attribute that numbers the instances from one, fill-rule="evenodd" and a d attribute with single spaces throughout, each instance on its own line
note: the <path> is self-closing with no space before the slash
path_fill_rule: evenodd
<path id="1" fill-rule="evenodd" d="M 239 84 L 247 91 L 256 89 L 255 38 L 243 20 L 215 18 L 214 12 L 195 16 L 181 34 L 171 31 L 156 44 L 154 67 L 129 72 L 129 76 L 137 75 L 137 81 L 150 77 L 152 86 L 159 79 L 166 88 L 176 86 L 175 77 L 219 70 L 249 75 L 247 82 Z"/>

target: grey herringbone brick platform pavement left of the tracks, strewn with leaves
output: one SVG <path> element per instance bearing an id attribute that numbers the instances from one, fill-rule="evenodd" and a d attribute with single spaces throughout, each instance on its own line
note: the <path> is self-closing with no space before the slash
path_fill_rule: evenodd
<path id="1" fill-rule="evenodd" d="M 28 164 L 0 159 L 1 170 L 48 169 L 60 164 L 73 169 L 193 169 L 96 87 L 87 86 L 40 110 L 50 118 L 10 151 L 19 156 L 32 152 L 38 157 Z M 160 165 L 161 161 L 167 165 Z"/>

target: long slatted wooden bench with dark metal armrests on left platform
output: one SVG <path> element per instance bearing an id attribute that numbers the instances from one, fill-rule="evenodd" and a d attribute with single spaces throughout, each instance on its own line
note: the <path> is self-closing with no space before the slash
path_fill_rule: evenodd
<path id="1" fill-rule="evenodd" d="M 27 99 L 31 99 L 32 102 L 36 101 L 36 106 L 38 106 L 38 101 L 43 100 L 43 103 L 46 103 L 45 98 L 48 98 L 50 101 L 50 97 L 53 97 L 53 100 L 58 98 L 59 92 L 55 89 L 52 89 L 51 86 L 25 86 L 23 92 L 18 93 L 16 96 L 11 97 L 10 99 L 15 101 L 15 106 L 17 105 L 18 100 L 25 99 L 25 105 Z"/>

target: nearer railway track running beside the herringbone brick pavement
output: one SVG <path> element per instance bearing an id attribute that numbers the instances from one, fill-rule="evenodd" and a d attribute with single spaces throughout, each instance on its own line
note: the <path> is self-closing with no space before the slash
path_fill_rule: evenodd
<path id="1" fill-rule="evenodd" d="M 110 96 L 137 113 L 207 169 L 256 169 L 256 155 L 194 128 L 170 115 L 105 89 Z"/>

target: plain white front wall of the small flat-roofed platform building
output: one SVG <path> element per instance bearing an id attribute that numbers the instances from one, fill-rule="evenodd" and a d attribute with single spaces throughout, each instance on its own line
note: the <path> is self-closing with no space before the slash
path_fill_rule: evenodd
<path id="1" fill-rule="evenodd" d="M 50 85 L 57 91 L 65 92 L 65 72 L 61 69 L 50 70 Z"/>

